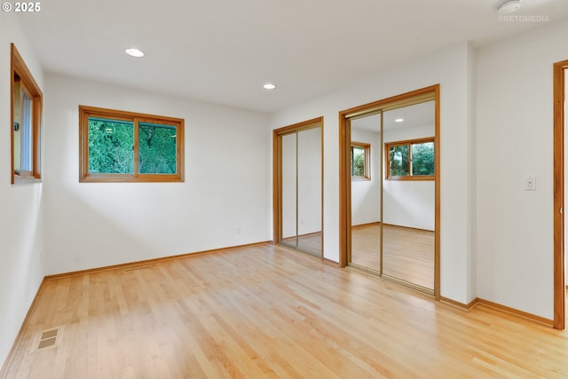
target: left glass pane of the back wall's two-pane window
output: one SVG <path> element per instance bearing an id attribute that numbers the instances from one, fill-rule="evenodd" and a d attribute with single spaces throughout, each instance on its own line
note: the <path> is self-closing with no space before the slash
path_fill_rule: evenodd
<path id="1" fill-rule="evenodd" d="M 89 117 L 89 173 L 134 173 L 134 122 Z"/>

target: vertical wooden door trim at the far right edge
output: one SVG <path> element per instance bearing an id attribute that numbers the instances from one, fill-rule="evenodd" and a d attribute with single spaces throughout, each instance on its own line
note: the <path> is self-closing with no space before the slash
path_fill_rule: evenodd
<path id="1" fill-rule="evenodd" d="M 554 65 L 554 328 L 563 330 L 566 325 L 566 243 L 564 211 L 564 150 L 566 148 L 565 101 L 568 98 L 568 60 Z"/>

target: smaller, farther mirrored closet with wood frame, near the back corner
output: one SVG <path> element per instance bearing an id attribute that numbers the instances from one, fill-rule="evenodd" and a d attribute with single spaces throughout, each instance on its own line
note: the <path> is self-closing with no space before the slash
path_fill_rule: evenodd
<path id="1" fill-rule="evenodd" d="M 272 138 L 274 241 L 323 259 L 323 117 Z"/>

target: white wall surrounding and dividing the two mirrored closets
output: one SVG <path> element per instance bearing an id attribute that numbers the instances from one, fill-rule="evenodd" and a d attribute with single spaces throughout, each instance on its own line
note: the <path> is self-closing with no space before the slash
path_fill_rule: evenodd
<path id="1" fill-rule="evenodd" d="M 272 129 L 324 115 L 324 257 L 339 260 L 339 130 L 337 113 L 378 99 L 440 83 L 441 97 L 441 295 L 469 303 L 469 59 L 459 43 L 397 67 L 377 67 L 363 83 L 272 116 Z"/>

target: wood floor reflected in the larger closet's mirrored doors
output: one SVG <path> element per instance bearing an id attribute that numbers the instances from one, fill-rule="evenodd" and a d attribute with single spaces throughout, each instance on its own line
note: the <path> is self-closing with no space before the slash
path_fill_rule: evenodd
<path id="1" fill-rule="evenodd" d="M 351 263 L 380 270 L 380 224 L 351 228 Z M 434 288 L 434 232 L 383 226 L 383 274 Z"/>

